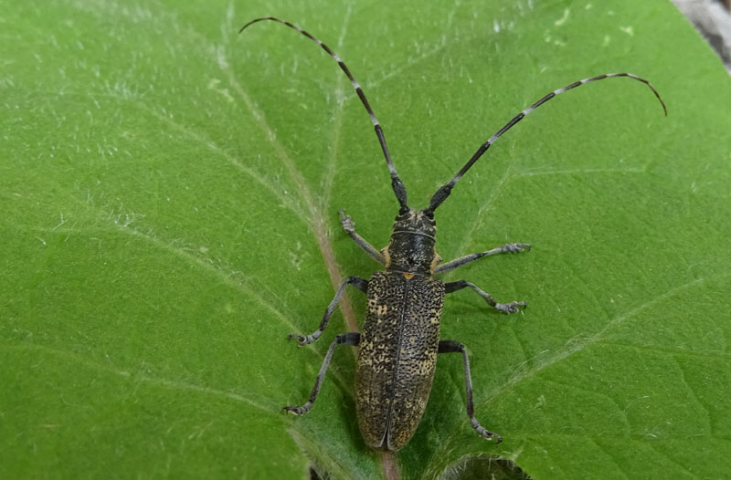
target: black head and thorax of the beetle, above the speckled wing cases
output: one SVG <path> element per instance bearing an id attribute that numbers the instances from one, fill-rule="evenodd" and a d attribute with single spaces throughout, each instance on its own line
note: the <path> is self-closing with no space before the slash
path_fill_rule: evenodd
<path id="1" fill-rule="evenodd" d="M 382 250 L 387 258 L 387 270 L 431 275 L 439 257 L 434 247 L 435 235 L 437 228 L 433 215 L 411 208 L 405 213 L 399 212 L 391 240 Z"/>

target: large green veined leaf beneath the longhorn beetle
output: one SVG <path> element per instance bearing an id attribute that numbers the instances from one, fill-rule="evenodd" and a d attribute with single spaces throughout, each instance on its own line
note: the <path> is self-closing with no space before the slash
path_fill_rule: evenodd
<path id="1" fill-rule="evenodd" d="M 23 2 L 0 58 L 0 476 L 375 478 L 355 421 L 355 350 L 298 349 L 339 277 L 377 265 L 397 203 L 363 85 L 410 203 L 553 89 L 440 207 L 445 259 L 529 253 L 445 276 L 530 308 L 451 295 L 457 355 L 397 454 L 401 478 L 468 455 L 533 478 L 731 471 L 731 80 L 668 2 Z"/>

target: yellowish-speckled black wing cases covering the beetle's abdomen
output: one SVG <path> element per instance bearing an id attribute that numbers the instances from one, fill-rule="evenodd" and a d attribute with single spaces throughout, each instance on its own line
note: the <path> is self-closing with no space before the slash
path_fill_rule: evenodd
<path id="1" fill-rule="evenodd" d="M 434 379 L 443 303 L 440 280 L 387 271 L 368 281 L 355 391 L 360 431 L 372 448 L 396 451 L 417 429 Z"/>

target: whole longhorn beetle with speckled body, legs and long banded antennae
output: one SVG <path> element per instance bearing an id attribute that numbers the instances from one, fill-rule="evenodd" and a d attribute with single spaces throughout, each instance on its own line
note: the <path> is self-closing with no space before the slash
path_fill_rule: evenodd
<path id="1" fill-rule="evenodd" d="M 434 379 L 434 369 L 437 364 L 438 353 L 461 353 L 464 362 L 465 389 L 467 397 L 467 415 L 477 433 L 484 438 L 497 443 L 502 441 L 500 435 L 482 427 L 474 417 L 472 403 L 472 383 L 470 375 L 470 360 L 464 345 L 455 340 L 440 340 L 440 316 L 444 303 L 444 295 L 462 288 L 471 288 L 488 305 L 504 313 L 514 313 L 518 307 L 525 307 L 523 301 L 498 303 L 493 297 L 480 287 L 466 280 L 443 283 L 434 278 L 435 274 L 443 274 L 457 267 L 465 266 L 482 258 L 500 253 L 523 252 L 530 248 L 528 244 L 507 244 L 492 250 L 461 256 L 447 263 L 441 263 L 441 257 L 435 247 L 436 224 L 434 211 L 450 196 L 451 189 L 460 181 L 462 175 L 470 170 L 474 162 L 487 151 L 490 146 L 510 130 L 517 122 L 523 120 L 533 110 L 546 101 L 567 90 L 575 89 L 580 85 L 601 80 L 604 78 L 627 77 L 641 81 L 647 85 L 655 97 L 660 101 L 662 110 L 667 116 L 665 104 L 652 84 L 631 73 L 608 73 L 597 77 L 584 78 L 575 81 L 562 89 L 548 93 L 527 109 L 518 113 L 505 126 L 497 130 L 488 141 L 482 143 L 474 152 L 471 159 L 464 164 L 459 172 L 431 196 L 429 206 L 423 210 L 415 210 L 408 206 L 407 193 L 404 183 L 398 177 L 396 167 L 388 153 L 383 129 L 371 109 L 365 93 L 358 82 L 330 47 L 320 39 L 313 37 L 299 26 L 293 25 L 273 16 L 256 18 L 243 26 L 239 33 L 248 26 L 263 20 L 273 20 L 300 32 L 304 37 L 313 40 L 317 45 L 333 57 L 338 66 L 344 71 L 353 84 L 355 93 L 363 103 L 376 129 L 376 137 L 386 158 L 388 172 L 391 174 L 391 187 L 396 193 L 399 204 L 393 233 L 383 249 L 378 250 L 369 244 L 365 238 L 355 232 L 355 224 L 349 216 L 340 210 L 340 224 L 347 235 L 360 246 L 365 253 L 373 257 L 376 262 L 384 266 L 385 271 L 379 271 L 365 280 L 360 277 L 348 277 L 337 289 L 333 301 L 330 302 L 320 327 L 314 333 L 302 337 L 292 333 L 289 338 L 299 340 L 300 346 L 312 343 L 319 339 L 327 322 L 333 315 L 335 306 L 343 296 L 345 287 L 352 285 L 367 294 L 367 313 L 363 331 L 341 333 L 335 337 L 327 350 L 323 366 L 317 374 L 310 399 L 302 406 L 287 406 L 285 410 L 302 415 L 309 412 L 317 398 L 320 386 L 323 383 L 333 351 L 337 345 L 360 346 L 358 353 L 357 370 L 355 372 L 355 404 L 360 431 L 365 443 L 377 450 L 397 451 L 408 443 L 417 429 L 421 415 L 427 406 L 431 383 Z"/>

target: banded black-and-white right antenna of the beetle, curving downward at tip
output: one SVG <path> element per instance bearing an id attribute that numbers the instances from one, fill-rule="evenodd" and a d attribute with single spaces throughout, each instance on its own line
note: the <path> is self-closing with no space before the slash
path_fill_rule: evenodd
<path id="1" fill-rule="evenodd" d="M 652 83 L 650 83 L 650 81 L 648 81 L 644 78 L 640 78 L 631 73 L 605 73 L 604 75 L 598 75 L 597 77 L 584 78 L 583 80 L 577 80 L 574 83 L 567 85 L 563 89 L 554 90 L 551 93 L 547 94 L 543 99 L 539 99 L 533 105 L 531 105 L 527 109 L 525 109 L 525 110 L 521 111 L 520 113 L 518 113 L 517 115 L 515 115 L 513 117 L 513 120 L 510 120 L 509 122 L 507 122 L 503 126 L 502 129 L 497 130 L 497 132 L 492 137 L 490 137 L 490 139 L 488 141 L 485 141 L 484 143 L 482 143 L 480 148 L 474 152 L 471 159 L 467 163 L 464 164 L 464 166 L 461 168 L 460 172 L 457 172 L 457 174 L 454 175 L 454 178 L 452 178 L 449 183 L 442 185 L 440 187 L 440 189 L 437 190 L 437 192 L 435 192 L 432 195 L 431 200 L 429 200 L 429 207 L 426 209 L 426 212 L 433 214 L 434 210 L 436 210 L 437 207 L 440 206 L 440 204 L 442 202 L 444 202 L 448 196 L 450 196 L 451 189 L 452 189 L 452 187 L 454 187 L 455 183 L 459 182 L 460 179 L 462 178 L 462 175 L 464 175 L 468 170 L 470 170 L 470 168 L 474 164 L 474 162 L 477 162 L 478 159 L 480 159 L 480 157 L 482 157 L 482 153 L 487 151 L 487 149 L 490 148 L 490 145 L 492 145 L 494 141 L 499 139 L 503 135 L 503 133 L 505 133 L 507 130 L 510 130 L 511 128 L 513 128 L 513 126 L 517 122 L 519 122 L 520 120 L 523 120 L 524 117 L 526 115 L 528 115 L 530 112 L 532 112 L 533 110 L 537 109 L 538 107 L 540 107 L 541 105 L 546 103 L 546 101 L 553 99 L 554 97 L 556 97 L 556 95 L 560 95 L 567 90 L 576 89 L 578 86 L 584 85 L 585 83 L 588 83 L 588 82 L 592 82 L 592 81 L 596 81 L 596 80 L 603 80 L 604 78 L 615 78 L 615 77 L 632 78 L 634 80 L 641 81 L 642 83 L 644 83 L 645 85 L 650 87 L 650 89 L 652 89 L 652 93 L 654 93 L 655 97 L 657 97 L 657 99 L 660 101 L 660 104 L 662 105 L 662 110 L 665 112 L 665 116 L 667 117 L 668 109 L 667 109 L 667 107 L 665 107 L 665 102 L 662 101 L 662 98 L 660 97 L 660 94 L 657 92 L 657 90 L 654 87 L 652 87 Z"/>

